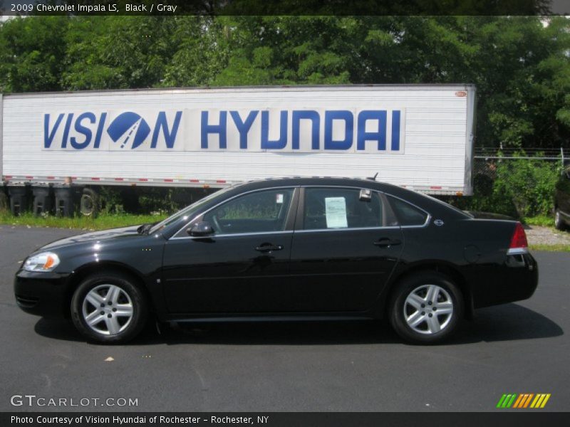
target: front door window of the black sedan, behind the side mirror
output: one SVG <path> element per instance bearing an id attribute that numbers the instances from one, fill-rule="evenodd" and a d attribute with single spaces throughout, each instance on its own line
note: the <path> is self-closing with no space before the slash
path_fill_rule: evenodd
<path id="1" fill-rule="evenodd" d="M 244 194 L 212 209 L 203 221 L 216 234 L 283 231 L 294 189 L 271 189 Z"/>

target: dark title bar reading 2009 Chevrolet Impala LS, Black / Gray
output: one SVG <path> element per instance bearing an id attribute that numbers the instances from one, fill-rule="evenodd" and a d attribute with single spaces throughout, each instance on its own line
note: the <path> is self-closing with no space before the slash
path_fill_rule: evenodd
<path id="1" fill-rule="evenodd" d="M 0 0 L 6 16 L 568 15 L 567 0 Z"/>

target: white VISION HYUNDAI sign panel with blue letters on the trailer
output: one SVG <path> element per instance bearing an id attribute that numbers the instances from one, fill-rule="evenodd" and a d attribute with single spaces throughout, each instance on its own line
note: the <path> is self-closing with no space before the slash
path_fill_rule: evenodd
<path id="1" fill-rule="evenodd" d="M 404 129 L 404 108 L 48 112 L 42 149 L 403 154 Z"/>

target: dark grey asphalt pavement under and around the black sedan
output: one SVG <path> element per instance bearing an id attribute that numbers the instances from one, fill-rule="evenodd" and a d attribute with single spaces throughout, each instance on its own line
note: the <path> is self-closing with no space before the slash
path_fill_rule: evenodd
<path id="1" fill-rule="evenodd" d="M 149 328 L 103 346 L 14 300 L 26 255 L 74 233 L 0 226 L 0 411 L 497 411 L 505 393 L 570 410 L 570 253 L 534 253 L 534 296 L 477 310 L 445 345 L 404 344 L 385 322 L 309 322 Z"/>

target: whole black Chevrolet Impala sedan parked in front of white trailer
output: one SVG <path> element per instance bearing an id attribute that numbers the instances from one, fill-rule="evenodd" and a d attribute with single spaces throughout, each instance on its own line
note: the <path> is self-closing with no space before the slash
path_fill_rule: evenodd
<path id="1" fill-rule="evenodd" d="M 157 224 L 50 243 L 16 273 L 22 310 L 116 343 L 159 322 L 388 317 L 440 342 L 478 307 L 524 300 L 537 263 L 516 221 L 474 218 L 371 180 L 291 178 L 217 191 Z"/>

